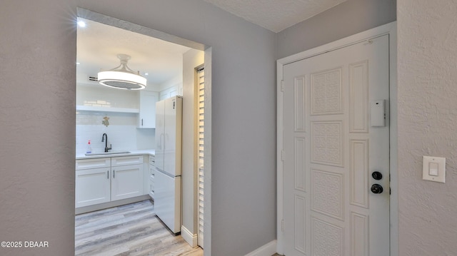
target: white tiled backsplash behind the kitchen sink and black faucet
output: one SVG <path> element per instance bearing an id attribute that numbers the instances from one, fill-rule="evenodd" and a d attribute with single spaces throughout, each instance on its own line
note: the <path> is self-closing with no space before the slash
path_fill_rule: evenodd
<path id="1" fill-rule="evenodd" d="M 104 117 L 109 118 L 109 126 L 104 126 Z M 87 142 L 91 140 L 92 152 L 103 152 L 103 133 L 108 135 L 111 150 L 154 149 L 154 129 L 136 128 L 138 116 L 134 113 L 101 113 L 78 111 L 76 113 L 76 154 L 84 154 Z"/>

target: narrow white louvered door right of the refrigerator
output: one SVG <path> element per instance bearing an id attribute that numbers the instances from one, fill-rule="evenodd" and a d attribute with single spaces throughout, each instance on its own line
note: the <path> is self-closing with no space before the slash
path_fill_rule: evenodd
<path id="1" fill-rule="evenodd" d="M 204 241 L 204 126 L 205 126 L 205 71 L 203 68 L 197 71 L 197 165 L 199 168 L 199 232 L 197 243 L 203 248 Z"/>

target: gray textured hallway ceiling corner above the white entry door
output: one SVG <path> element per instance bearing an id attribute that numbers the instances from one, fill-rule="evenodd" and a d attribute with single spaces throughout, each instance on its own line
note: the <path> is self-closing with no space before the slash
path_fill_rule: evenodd
<path id="1" fill-rule="evenodd" d="M 311 18 L 346 0 L 204 0 L 273 32 Z"/>

